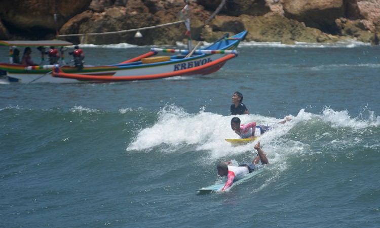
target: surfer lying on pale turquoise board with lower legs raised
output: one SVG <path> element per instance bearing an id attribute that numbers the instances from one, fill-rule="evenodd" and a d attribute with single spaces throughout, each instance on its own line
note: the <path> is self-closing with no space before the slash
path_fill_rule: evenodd
<path id="1" fill-rule="evenodd" d="M 232 161 L 229 161 L 220 162 L 216 166 L 219 176 L 227 176 L 227 181 L 225 182 L 221 191 L 225 191 L 226 189 L 230 188 L 234 183 L 234 180 L 241 179 L 242 177 L 244 177 L 244 175 L 260 168 L 260 165 L 257 165 L 259 161 L 261 161 L 262 165 L 269 164 L 267 155 L 260 148 L 260 141 L 257 142 L 254 148 L 257 150 L 257 156 L 253 159 L 252 163 L 243 163 L 238 166 L 232 166 Z"/>

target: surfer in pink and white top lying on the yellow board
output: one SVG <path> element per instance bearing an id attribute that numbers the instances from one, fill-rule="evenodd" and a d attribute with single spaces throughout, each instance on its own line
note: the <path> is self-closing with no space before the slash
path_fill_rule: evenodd
<path id="1" fill-rule="evenodd" d="M 280 121 L 279 124 L 285 124 L 287 121 L 290 121 L 290 117 L 286 117 L 285 120 Z M 231 119 L 231 129 L 235 131 L 236 134 L 240 136 L 240 138 L 254 138 L 258 137 L 268 130 L 270 130 L 271 126 L 265 125 L 256 125 L 256 122 L 252 122 L 249 124 L 240 124 L 241 121 L 238 117 L 234 117 Z"/>

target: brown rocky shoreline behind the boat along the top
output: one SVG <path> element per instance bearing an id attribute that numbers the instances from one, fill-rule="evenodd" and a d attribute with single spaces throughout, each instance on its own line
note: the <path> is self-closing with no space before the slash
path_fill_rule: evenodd
<path id="1" fill-rule="evenodd" d="M 179 21 L 183 0 L 3 0 L 0 40 L 51 40 L 59 34 L 121 31 Z M 248 30 L 246 41 L 380 42 L 380 0 L 190 0 L 192 39 Z M 213 17 L 213 13 L 216 16 Z M 56 17 L 54 17 L 54 14 Z M 74 44 L 174 45 L 183 23 L 117 34 L 60 37 Z"/>

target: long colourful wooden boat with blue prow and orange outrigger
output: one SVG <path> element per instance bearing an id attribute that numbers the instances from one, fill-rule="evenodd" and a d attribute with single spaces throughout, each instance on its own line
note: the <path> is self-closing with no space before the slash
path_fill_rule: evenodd
<path id="1" fill-rule="evenodd" d="M 118 64 L 103 66 L 71 66 L 64 62 L 64 58 L 58 65 L 19 65 L 11 61 L 12 51 L 10 51 L 10 63 L 0 63 L 0 70 L 7 72 L 10 81 L 18 83 L 118 82 L 160 79 L 179 75 L 204 75 L 215 72 L 227 60 L 236 57 L 237 51 L 234 49 L 238 47 L 246 34 L 247 31 L 231 37 L 226 34 L 216 42 L 192 51 L 152 48 L 150 52 L 141 56 Z M 68 42 L 59 45 L 58 42 L 62 41 L 25 42 L 22 45 L 61 47 L 72 45 Z M 10 46 L 11 50 L 12 46 L 20 46 L 21 43 L 0 41 L 0 44 Z M 158 53 L 162 53 L 163 56 L 157 56 Z M 167 53 L 175 54 L 165 56 Z M 61 52 L 61 58 L 62 56 L 64 56 L 63 52 Z"/>

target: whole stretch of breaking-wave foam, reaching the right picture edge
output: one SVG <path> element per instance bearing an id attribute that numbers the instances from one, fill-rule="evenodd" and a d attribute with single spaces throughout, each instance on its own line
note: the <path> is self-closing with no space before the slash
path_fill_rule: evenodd
<path id="1" fill-rule="evenodd" d="M 257 140 L 239 146 L 233 146 L 224 140 L 224 138 L 239 138 L 231 129 L 231 118 L 203 110 L 190 114 L 175 105 L 166 106 L 159 112 L 157 123 L 141 130 L 127 151 L 150 150 L 162 144 L 167 144 L 170 148 L 195 145 L 196 150 L 208 151 L 209 157 L 204 161 L 206 163 L 222 158 L 234 159 L 245 153 L 252 153 L 253 158 L 253 146 Z M 319 143 L 321 148 L 343 148 L 360 144 L 363 139 L 357 135 L 368 127 L 378 127 L 380 123 L 379 117 L 362 120 L 360 117 L 351 117 L 346 110 L 335 111 L 327 107 L 321 114 L 301 109 L 286 124 L 276 124 L 282 119 L 253 114 L 242 115 L 239 118 L 242 124 L 256 122 L 260 125 L 275 125 L 274 129 L 263 134 L 258 140 L 264 151 L 267 151 L 271 163 L 276 164 L 272 169 L 276 169 L 274 171 L 277 172 L 287 169 L 288 159 L 294 156 L 319 153 L 320 150 L 310 148 L 314 143 Z M 330 132 L 331 128 L 336 129 L 338 133 L 335 130 Z M 305 132 L 299 135 L 294 129 L 305 129 Z M 288 137 L 288 134 L 295 136 Z"/>

